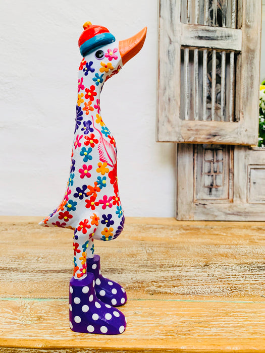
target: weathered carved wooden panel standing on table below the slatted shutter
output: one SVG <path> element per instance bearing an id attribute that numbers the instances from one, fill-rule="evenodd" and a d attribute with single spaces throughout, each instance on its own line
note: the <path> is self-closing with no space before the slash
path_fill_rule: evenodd
<path id="1" fill-rule="evenodd" d="M 178 145 L 177 219 L 265 221 L 265 148 L 215 146 Z"/>

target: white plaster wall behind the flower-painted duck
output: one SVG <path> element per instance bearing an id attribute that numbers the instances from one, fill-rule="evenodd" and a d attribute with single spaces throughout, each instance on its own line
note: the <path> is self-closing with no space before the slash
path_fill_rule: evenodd
<path id="1" fill-rule="evenodd" d="M 148 27 L 140 53 L 105 84 L 101 113 L 118 145 L 125 214 L 172 217 L 175 146 L 155 142 L 154 0 L 2 0 L 0 213 L 46 216 L 64 195 L 81 61 L 77 42 L 86 21 L 117 39 Z"/>

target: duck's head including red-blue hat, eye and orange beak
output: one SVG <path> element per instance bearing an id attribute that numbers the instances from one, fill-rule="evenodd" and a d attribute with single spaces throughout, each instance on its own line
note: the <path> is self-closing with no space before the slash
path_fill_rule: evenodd
<path id="1" fill-rule="evenodd" d="M 78 41 L 83 56 L 80 68 L 84 75 L 94 75 L 92 80 L 97 86 L 103 85 L 107 79 L 117 74 L 140 51 L 147 31 L 145 27 L 133 37 L 117 42 L 105 27 L 86 22 L 83 28 Z"/>

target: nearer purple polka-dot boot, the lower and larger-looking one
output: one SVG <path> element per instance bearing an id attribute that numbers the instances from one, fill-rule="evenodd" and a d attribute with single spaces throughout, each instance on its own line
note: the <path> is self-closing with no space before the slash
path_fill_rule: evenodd
<path id="1" fill-rule="evenodd" d="M 70 328 L 75 332 L 116 335 L 125 330 L 123 313 L 97 299 L 93 273 L 72 277 L 69 296 Z"/>

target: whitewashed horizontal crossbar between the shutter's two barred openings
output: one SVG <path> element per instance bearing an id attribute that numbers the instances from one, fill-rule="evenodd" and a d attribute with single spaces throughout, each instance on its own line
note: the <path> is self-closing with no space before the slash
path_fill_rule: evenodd
<path id="1" fill-rule="evenodd" d="M 225 27 L 181 24 L 181 45 L 220 50 L 242 49 L 242 31 Z"/>

